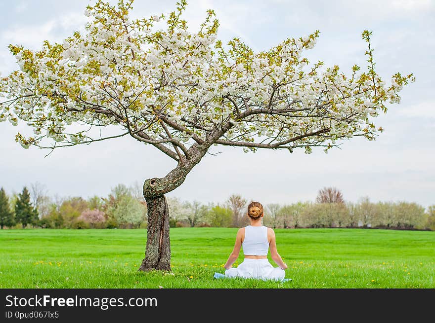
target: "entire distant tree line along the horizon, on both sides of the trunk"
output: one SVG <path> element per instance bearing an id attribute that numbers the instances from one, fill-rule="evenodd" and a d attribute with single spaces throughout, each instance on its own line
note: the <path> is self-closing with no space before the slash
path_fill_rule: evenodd
<path id="1" fill-rule="evenodd" d="M 171 227 L 240 227 L 249 224 L 251 202 L 233 194 L 223 203 L 203 204 L 168 197 Z M 0 189 L 1 228 L 146 228 L 141 185 L 118 184 L 106 197 L 49 197 L 44 185 L 6 194 Z M 435 205 L 427 210 L 413 202 L 346 202 L 334 187 L 318 191 L 314 202 L 264 205 L 263 224 L 272 228 L 387 228 L 435 230 Z"/>

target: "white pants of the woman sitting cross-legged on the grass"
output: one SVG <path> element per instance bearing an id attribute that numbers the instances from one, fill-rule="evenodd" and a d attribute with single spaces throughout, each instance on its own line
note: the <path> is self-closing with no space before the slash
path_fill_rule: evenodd
<path id="1" fill-rule="evenodd" d="M 282 281 L 285 277 L 285 270 L 273 267 L 267 258 L 265 259 L 244 259 L 237 268 L 225 270 L 225 276 L 242 278 L 259 278 L 262 280 Z"/>

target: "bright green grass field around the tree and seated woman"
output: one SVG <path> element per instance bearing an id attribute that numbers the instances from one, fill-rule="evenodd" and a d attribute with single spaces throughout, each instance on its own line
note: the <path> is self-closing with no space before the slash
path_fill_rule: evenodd
<path id="1" fill-rule="evenodd" d="M 289 282 L 213 279 L 236 228 L 171 228 L 172 272 L 137 272 L 145 229 L 0 231 L 1 288 L 434 288 L 435 232 L 275 229 Z M 235 263 L 243 261 L 243 252 Z M 270 260 L 271 263 L 276 264 Z"/>

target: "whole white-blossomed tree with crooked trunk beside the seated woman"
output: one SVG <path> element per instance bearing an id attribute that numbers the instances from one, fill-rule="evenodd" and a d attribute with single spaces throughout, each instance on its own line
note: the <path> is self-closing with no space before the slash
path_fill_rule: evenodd
<path id="1" fill-rule="evenodd" d="M 367 68 L 355 65 L 346 74 L 304 57 L 318 31 L 254 52 L 239 38 L 227 44 L 217 39 L 213 10 L 193 32 L 182 19 L 185 0 L 168 16 L 143 19 L 130 17 L 132 2 L 87 6 L 86 31 L 62 43 L 44 41 L 39 51 L 10 45 L 20 69 L 1 78 L 0 120 L 33 128 L 30 136 L 16 135 L 25 148 L 131 136 L 174 160 L 165 177 L 144 181 L 148 233 L 140 270 L 170 270 L 165 194 L 183 183 L 212 145 L 310 153 L 354 136 L 374 140 L 383 129 L 370 117 L 399 103 L 398 92 L 413 80 L 398 72 L 390 84 L 381 79 L 369 31 L 362 33 Z M 161 19 L 166 27 L 157 29 Z M 119 133 L 92 132 L 107 126 Z"/>

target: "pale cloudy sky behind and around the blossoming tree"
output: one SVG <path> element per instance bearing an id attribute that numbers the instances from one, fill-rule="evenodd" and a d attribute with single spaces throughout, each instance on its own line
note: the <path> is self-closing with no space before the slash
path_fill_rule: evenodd
<path id="1" fill-rule="evenodd" d="M 111 1 L 113 2 L 113 1 Z M 136 0 L 132 16 L 168 13 L 175 0 Z M 42 41 L 61 41 L 82 30 L 84 9 L 94 1 L 0 0 L 0 72 L 16 69 L 9 43 L 39 49 Z M 399 105 L 389 105 L 377 126 L 385 132 L 374 142 L 353 138 L 341 149 L 325 154 L 213 146 L 168 196 L 203 203 L 224 202 L 231 194 L 268 203 L 313 201 L 319 189 L 334 186 L 345 200 L 408 201 L 424 207 L 435 204 L 435 52 L 434 0 L 190 0 L 185 17 L 192 29 L 207 9 L 220 21 L 219 38 L 240 37 L 256 51 L 266 50 L 291 36 L 320 30 L 308 58 L 325 67 L 349 71 L 365 66 L 361 32 L 373 31 L 378 73 L 386 80 L 395 72 L 413 72 L 416 82 L 405 87 Z M 105 196 L 118 183 L 165 176 L 175 164 L 151 145 L 123 137 L 91 145 L 48 151 L 23 149 L 17 131 L 0 123 L 0 186 L 11 193 L 40 182 L 50 195 Z"/>

